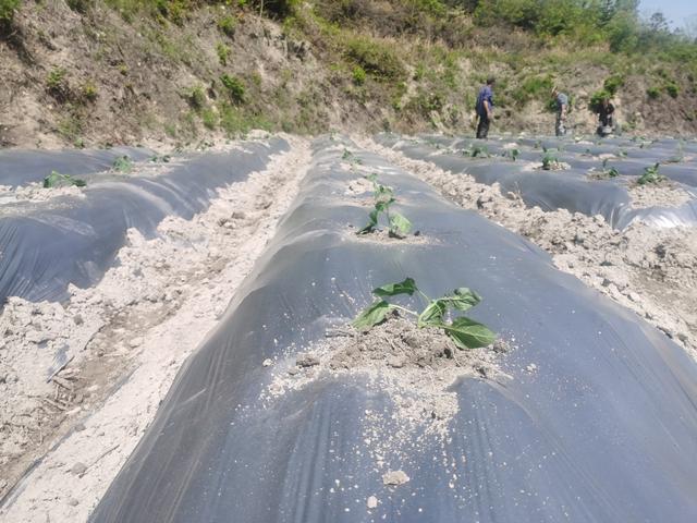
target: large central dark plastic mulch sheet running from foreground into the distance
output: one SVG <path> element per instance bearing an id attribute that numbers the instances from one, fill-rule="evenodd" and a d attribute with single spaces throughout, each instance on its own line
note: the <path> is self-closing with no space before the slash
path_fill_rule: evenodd
<path id="1" fill-rule="evenodd" d="M 539 248 L 362 151 L 436 243 L 356 241 L 346 226 L 364 224 L 367 195 L 345 194 L 356 174 L 340 160 L 343 146 L 330 145 L 316 144 L 276 239 L 90 521 L 696 521 L 695 363 Z M 453 386 L 451 439 L 414 435 L 380 469 L 365 413 L 382 413 L 390 433 L 393 405 L 360 376 L 322 376 L 266 406 L 258 398 L 328 325 L 369 303 L 374 287 L 405 276 L 431 295 L 473 287 L 484 302 L 472 316 L 516 349 L 503 364 L 511 379 Z M 388 469 L 411 481 L 383 486 Z"/>

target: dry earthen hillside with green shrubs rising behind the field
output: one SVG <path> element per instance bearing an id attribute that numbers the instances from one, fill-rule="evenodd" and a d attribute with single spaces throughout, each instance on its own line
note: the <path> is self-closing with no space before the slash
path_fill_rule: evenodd
<path id="1" fill-rule="evenodd" d="M 0 144 L 191 145 L 250 129 L 577 132 L 606 88 L 625 131 L 695 134 L 697 45 L 635 2 L 0 0 Z M 590 7 L 588 7 L 590 5 Z"/>

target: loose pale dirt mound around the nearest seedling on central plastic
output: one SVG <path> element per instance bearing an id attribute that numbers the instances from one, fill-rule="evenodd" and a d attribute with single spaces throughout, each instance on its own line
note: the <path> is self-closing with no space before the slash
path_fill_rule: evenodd
<path id="1" fill-rule="evenodd" d="M 367 332 L 351 326 L 328 332 L 297 356 L 290 369 L 274 376 L 268 398 L 307 386 L 323 376 L 367 378 L 374 391 L 386 392 L 403 430 L 448 434 L 457 413 L 451 386 L 462 377 L 502 379 L 503 341 L 482 349 L 461 350 L 440 329 L 419 329 L 398 316 Z M 405 438 L 406 439 L 406 438 Z"/>

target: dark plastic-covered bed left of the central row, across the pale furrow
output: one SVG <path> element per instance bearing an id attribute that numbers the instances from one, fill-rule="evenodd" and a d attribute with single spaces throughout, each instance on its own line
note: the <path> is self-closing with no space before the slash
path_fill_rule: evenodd
<path id="1" fill-rule="evenodd" d="M 146 238 L 167 216 L 189 219 L 216 188 L 261 170 L 284 141 L 244 144 L 245 150 L 197 155 L 157 177 L 120 177 L 88 184 L 83 198 L 7 205 L 0 212 L 0 306 L 8 296 L 62 301 L 68 285 L 101 279 L 129 228 Z M 113 178 L 113 177 L 112 177 Z"/>

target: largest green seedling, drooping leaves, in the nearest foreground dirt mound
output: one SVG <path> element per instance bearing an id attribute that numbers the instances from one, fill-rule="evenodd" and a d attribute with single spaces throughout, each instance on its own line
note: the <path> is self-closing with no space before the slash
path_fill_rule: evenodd
<path id="1" fill-rule="evenodd" d="M 411 296 L 414 293 L 418 293 L 427 303 L 426 308 L 420 313 L 386 300 L 400 294 Z M 414 279 L 406 278 L 399 283 L 378 287 L 372 290 L 372 294 L 376 296 L 376 301 L 356 316 L 352 323 L 356 329 L 370 330 L 376 325 L 386 321 L 388 315 L 405 313 L 416 317 L 416 325 L 419 329 L 442 329 L 460 349 L 487 346 L 493 343 L 497 338 L 497 335 L 486 325 L 466 316 L 458 316 L 452 320 L 445 319 L 447 314 L 452 314 L 455 311 L 469 311 L 481 301 L 479 294 L 466 287 L 461 287 L 450 294 L 431 300 L 416 287 Z"/>

